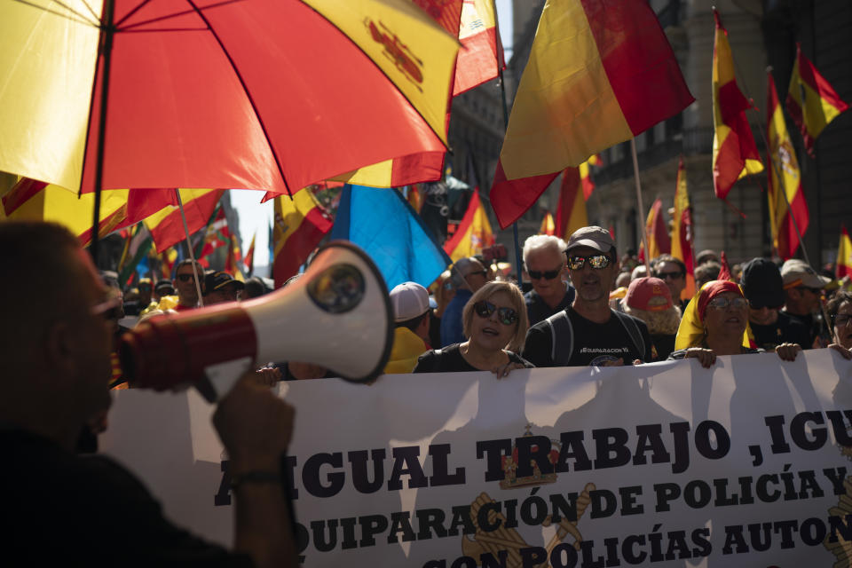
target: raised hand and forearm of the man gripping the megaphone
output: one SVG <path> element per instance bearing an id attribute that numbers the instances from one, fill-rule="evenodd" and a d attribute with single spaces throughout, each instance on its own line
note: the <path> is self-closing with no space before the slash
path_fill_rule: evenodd
<path id="1" fill-rule="evenodd" d="M 281 462 L 293 437 L 293 406 L 242 375 L 219 400 L 213 425 L 228 453 L 236 496 L 234 549 L 258 566 L 296 566 L 292 504 L 281 483 Z"/>

